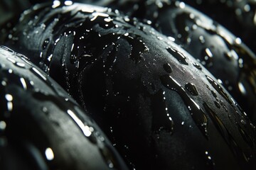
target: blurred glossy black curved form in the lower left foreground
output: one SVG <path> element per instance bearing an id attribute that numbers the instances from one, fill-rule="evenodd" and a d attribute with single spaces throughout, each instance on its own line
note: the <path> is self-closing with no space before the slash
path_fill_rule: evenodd
<path id="1" fill-rule="evenodd" d="M 127 169 L 92 118 L 53 79 L 6 47 L 0 46 L 0 61 L 0 120 L 6 125 L 0 130 L 0 169 Z M 89 137 L 78 121 L 94 129 Z M 48 147 L 53 160 L 46 157 Z"/>

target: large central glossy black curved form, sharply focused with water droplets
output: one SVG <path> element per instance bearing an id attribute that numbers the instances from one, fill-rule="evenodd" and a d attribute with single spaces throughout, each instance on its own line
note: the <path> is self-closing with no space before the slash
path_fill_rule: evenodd
<path id="1" fill-rule="evenodd" d="M 176 43 L 110 9 L 37 8 L 6 45 L 30 56 L 89 111 L 130 169 L 255 168 L 255 127 Z"/>

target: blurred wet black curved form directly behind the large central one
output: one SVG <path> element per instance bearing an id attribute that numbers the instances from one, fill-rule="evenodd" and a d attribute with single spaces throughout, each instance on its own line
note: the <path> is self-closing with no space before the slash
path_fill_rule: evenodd
<path id="1" fill-rule="evenodd" d="M 207 1 L 203 1 L 203 4 L 207 4 Z M 113 3 L 110 6 L 115 5 Z M 195 8 L 188 5 L 181 8 L 178 1 L 161 3 L 157 3 L 157 1 L 140 1 L 138 3 L 127 1 L 124 4 L 117 4 L 115 8 L 120 8 L 127 15 L 140 18 L 144 22 L 149 20 L 152 22 L 151 26 L 156 30 L 175 38 L 176 43 L 200 60 L 215 78 L 223 81 L 225 89 L 238 101 L 252 123 L 256 123 L 256 56 L 245 44 L 236 43 L 235 35 Z M 128 11 L 128 8 L 132 8 L 132 10 Z M 215 6 L 208 6 L 208 8 L 219 10 Z M 216 15 L 220 15 L 220 13 L 218 12 Z M 191 18 L 191 14 L 193 14 L 193 18 Z M 228 17 L 223 16 L 223 18 L 227 20 Z M 232 20 L 230 18 L 227 22 Z M 201 21 L 201 24 L 198 25 L 197 20 Z M 235 24 L 233 27 L 237 28 Z M 186 30 L 187 28 L 188 30 Z M 254 35 L 250 36 L 251 38 L 255 37 Z M 200 40 L 201 37 L 203 37 L 203 42 Z M 206 48 L 213 54 L 213 57 L 209 57 L 208 60 L 205 59 Z M 235 52 L 238 58 L 227 57 L 231 51 Z M 242 61 L 242 66 L 240 61 Z M 246 93 L 241 91 L 239 82 L 242 82 Z"/>

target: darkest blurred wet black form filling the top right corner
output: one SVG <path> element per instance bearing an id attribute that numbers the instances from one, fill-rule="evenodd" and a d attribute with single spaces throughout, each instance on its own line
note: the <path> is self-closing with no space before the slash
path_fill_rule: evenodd
<path id="1" fill-rule="evenodd" d="M 218 23 L 228 28 L 230 32 L 242 39 L 245 44 L 256 52 L 256 22 L 254 21 L 256 3 L 251 0 L 242 1 L 225 1 L 206 0 L 197 3 L 197 1 L 184 0 L 186 4 L 197 8 L 199 11 L 206 13 Z M 250 8 L 247 8 L 247 5 Z M 249 11 L 245 11 L 249 9 Z"/>

